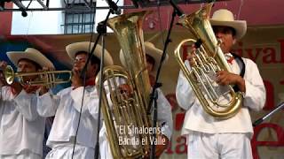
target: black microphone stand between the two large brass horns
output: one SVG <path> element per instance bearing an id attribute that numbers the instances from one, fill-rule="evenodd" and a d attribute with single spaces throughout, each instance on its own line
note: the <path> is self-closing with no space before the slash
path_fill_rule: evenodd
<path id="1" fill-rule="evenodd" d="M 170 0 L 170 3 L 172 3 L 171 0 Z M 176 7 L 174 7 L 174 11 L 172 11 L 171 20 L 170 20 L 170 29 L 169 29 L 169 32 L 168 32 L 168 35 L 167 35 L 167 38 L 166 38 L 166 42 L 165 42 L 164 48 L 162 50 L 162 58 L 160 60 L 158 71 L 156 73 L 154 86 L 153 86 L 153 89 L 152 89 L 152 93 L 150 94 L 150 102 L 149 102 L 149 105 L 148 105 L 148 108 L 147 108 L 147 114 L 150 115 L 151 114 L 151 110 L 152 110 L 152 104 L 154 102 L 154 108 L 153 108 L 153 111 L 154 111 L 153 128 L 156 127 L 157 117 L 158 117 L 158 109 L 157 109 L 158 93 L 157 93 L 156 89 L 158 87 L 162 87 L 162 83 L 159 83 L 158 81 L 159 81 L 159 77 L 160 77 L 162 63 L 163 63 L 163 61 L 164 61 L 164 59 L 166 57 L 166 51 L 167 51 L 169 43 L 171 42 L 170 34 L 171 34 L 172 27 L 173 27 L 174 19 L 177 16 L 177 14 L 179 14 L 179 11 L 177 11 Z M 154 140 L 155 138 L 156 138 L 156 132 L 154 131 L 154 133 L 152 135 L 152 140 Z M 151 155 L 150 155 L 150 158 L 154 159 L 154 156 L 155 156 L 155 145 L 154 145 L 154 143 L 151 143 L 151 144 L 152 145 L 151 145 Z"/>

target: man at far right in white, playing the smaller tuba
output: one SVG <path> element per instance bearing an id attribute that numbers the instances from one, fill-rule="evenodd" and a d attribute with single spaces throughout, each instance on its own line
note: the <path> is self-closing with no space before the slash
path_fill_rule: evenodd
<path id="1" fill-rule="evenodd" d="M 221 86 L 235 85 L 243 101 L 233 117 L 212 117 L 202 109 L 184 73 L 179 73 L 176 95 L 179 106 L 186 110 L 182 134 L 187 136 L 187 158 L 252 158 L 253 128 L 248 110 L 264 107 L 265 88 L 256 64 L 232 52 L 233 44 L 246 33 L 246 21 L 234 20 L 233 12 L 221 9 L 214 12 L 210 24 L 233 72 L 219 71 L 209 79 Z M 193 52 L 185 60 L 189 70 L 195 64 Z"/>

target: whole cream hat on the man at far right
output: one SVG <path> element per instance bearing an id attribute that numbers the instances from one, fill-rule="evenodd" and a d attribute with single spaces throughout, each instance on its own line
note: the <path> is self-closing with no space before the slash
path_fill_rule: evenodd
<path id="1" fill-rule="evenodd" d="M 213 13 L 210 19 L 211 26 L 233 27 L 236 31 L 236 39 L 241 39 L 247 32 L 247 22 L 245 20 L 234 20 L 233 12 L 220 9 Z"/>

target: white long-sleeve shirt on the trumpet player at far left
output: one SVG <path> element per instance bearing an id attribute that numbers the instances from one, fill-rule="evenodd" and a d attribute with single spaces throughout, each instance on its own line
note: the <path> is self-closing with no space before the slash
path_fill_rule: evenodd
<path id="1" fill-rule="evenodd" d="M 11 87 L 1 88 L 0 155 L 20 155 L 29 151 L 43 154 L 45 119 L 36 111 L 36 95 L 22 90 L 12 94 Z"/>

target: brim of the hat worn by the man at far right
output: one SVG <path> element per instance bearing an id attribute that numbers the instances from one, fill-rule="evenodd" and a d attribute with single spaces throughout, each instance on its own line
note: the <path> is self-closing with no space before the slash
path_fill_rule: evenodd
<path id="1" fill-rule="evenodd" d="M 210 19 L 211 26 L 233 27 L 236 30 L 236 39 L 241 39 L 247 32 L 247 22 L 245 20 L 220 21 Z"/>

